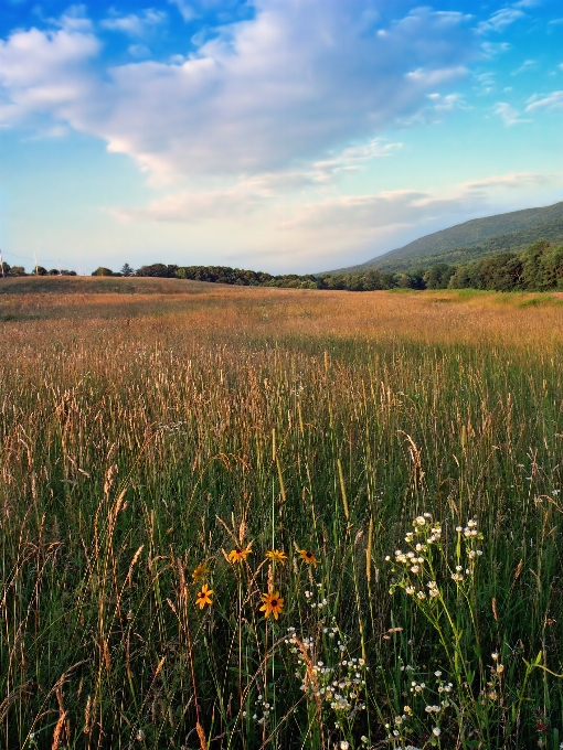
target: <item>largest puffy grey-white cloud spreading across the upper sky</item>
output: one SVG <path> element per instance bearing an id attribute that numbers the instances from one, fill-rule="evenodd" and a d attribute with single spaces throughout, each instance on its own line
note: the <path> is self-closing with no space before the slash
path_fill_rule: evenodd
<path id="1" fill-rule="evenodd" d="M 0 46 L 3 97 L 12 119 L 39 107 L 160 176 L 287 169 L 373 138 L 465 75 L 467 17 L 413 8 L 378 25 L 369 9 L 256 0 L 252 20 L 222 26 L 192 56 L 106 71 L 83 65 L 99 49 L 92 31 L 15 32 Z M 139 35 L 139 19 L 106 23 Z"/>

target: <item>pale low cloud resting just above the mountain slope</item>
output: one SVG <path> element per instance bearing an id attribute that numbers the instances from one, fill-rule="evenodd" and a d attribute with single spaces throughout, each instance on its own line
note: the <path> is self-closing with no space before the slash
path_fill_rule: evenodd
<path id="1" fill-rule="evenodd" d="M 534 201 L 531 196 L 542 195 L 548 186 L 561 190 L 563 174 L 510 173 L 442 191 L 399 190 L 328 197 L 297 207 L 279 221 L 267 233 L 272 239 L 265 247 L 266 257 L 274 255 L 276 247 L 278 251 L 284 247 L 287 261 L 297 264 L 300 248 L 307 247 L 309 262 L 317 258 L 317 268 L 309 266 L 315 270 L 362 262 L 445 226 L 514 206 L 528 207 Z"/>

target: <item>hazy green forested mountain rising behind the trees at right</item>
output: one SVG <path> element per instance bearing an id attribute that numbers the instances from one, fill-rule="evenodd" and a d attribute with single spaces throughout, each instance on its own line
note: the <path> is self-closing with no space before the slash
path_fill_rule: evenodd
<path id="1" fill-rule="evenodd" d="M 359 266 L 330 274 L 360 274 L 373 268 L 394 272 L 428 268 L 438 262 L 455 266 L 488 255 L 518 251 L 538 239 L 563 243 L 563 201 L 544 208 L 472 218 L 415 239 Z"/>

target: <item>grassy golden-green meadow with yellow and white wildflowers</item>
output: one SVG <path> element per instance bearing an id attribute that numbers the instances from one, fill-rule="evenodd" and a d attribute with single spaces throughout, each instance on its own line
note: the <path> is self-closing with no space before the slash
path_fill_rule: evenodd
<path id="1" fill-rule="evenodd" d="M 0 280 L 0 748 L 563 747 L 563 303 Z"/>

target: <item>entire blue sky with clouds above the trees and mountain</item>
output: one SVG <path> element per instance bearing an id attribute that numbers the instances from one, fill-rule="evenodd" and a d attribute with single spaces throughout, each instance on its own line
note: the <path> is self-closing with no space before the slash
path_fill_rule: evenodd
<path id="1" fill-rule="evenodd" d="M 0 248 L 363 262 L 563 201 L 561 0 L 0 0 Z"/>

